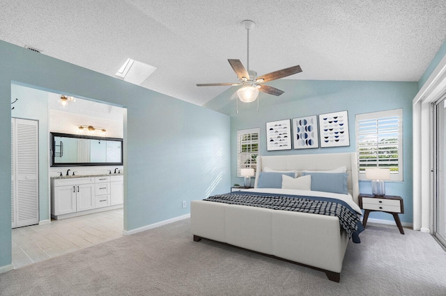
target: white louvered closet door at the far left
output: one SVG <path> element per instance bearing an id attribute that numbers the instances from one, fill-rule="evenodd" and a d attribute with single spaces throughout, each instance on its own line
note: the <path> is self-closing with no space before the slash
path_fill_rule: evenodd
<path id="1" fill-rule="evenodd" d="M 38 122 L 13 118 L 13 221 L 38 224 Z"/>

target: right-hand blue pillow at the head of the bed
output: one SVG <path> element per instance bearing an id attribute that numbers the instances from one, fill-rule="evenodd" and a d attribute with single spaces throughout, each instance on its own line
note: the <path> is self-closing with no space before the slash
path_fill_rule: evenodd
<path id="1" fill-rule="evenodd" d="M 312 176 L 312 190 L 348 194 L 347 173 L 302 172 L 302 176 Z"/>

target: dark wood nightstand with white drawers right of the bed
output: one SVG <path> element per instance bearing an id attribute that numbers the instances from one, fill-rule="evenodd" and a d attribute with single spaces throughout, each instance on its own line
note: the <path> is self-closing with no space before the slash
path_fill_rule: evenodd
<path id="1" fill-rule="evenodd" d="M 367 219 L 369 218 L 370 212 L 384 212 L 392 214 L 395 222 L 397 223 L 399 232 L 404 234 L 401 221 L 399 220 L 399 213 L 404 213 L 403 199 L 394 195 L 384 195 L 382 197 L 377 197 L 375 195 L 359 195 L 360 208 L 364 211 L 364 218 L 362 219 L 362 225 L 366 226 Z"/>

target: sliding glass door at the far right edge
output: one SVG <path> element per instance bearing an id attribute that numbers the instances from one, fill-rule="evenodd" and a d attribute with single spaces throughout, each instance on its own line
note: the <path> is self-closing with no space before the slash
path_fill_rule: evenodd
<path id="1" fill-rule="evenodd" d="M 434 201 L 433 235 L 446 247 L 446 97 L 434 106 Z"/>

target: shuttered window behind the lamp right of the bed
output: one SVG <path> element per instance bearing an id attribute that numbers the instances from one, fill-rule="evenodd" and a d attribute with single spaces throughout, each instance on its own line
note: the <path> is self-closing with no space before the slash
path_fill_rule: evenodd
<path id="1" fill-rule="evenodd" d="M 390 180 L 403 181 L 403 109 L 356 115 L 359 179 L 365 169 L 390 169 Z"/>

